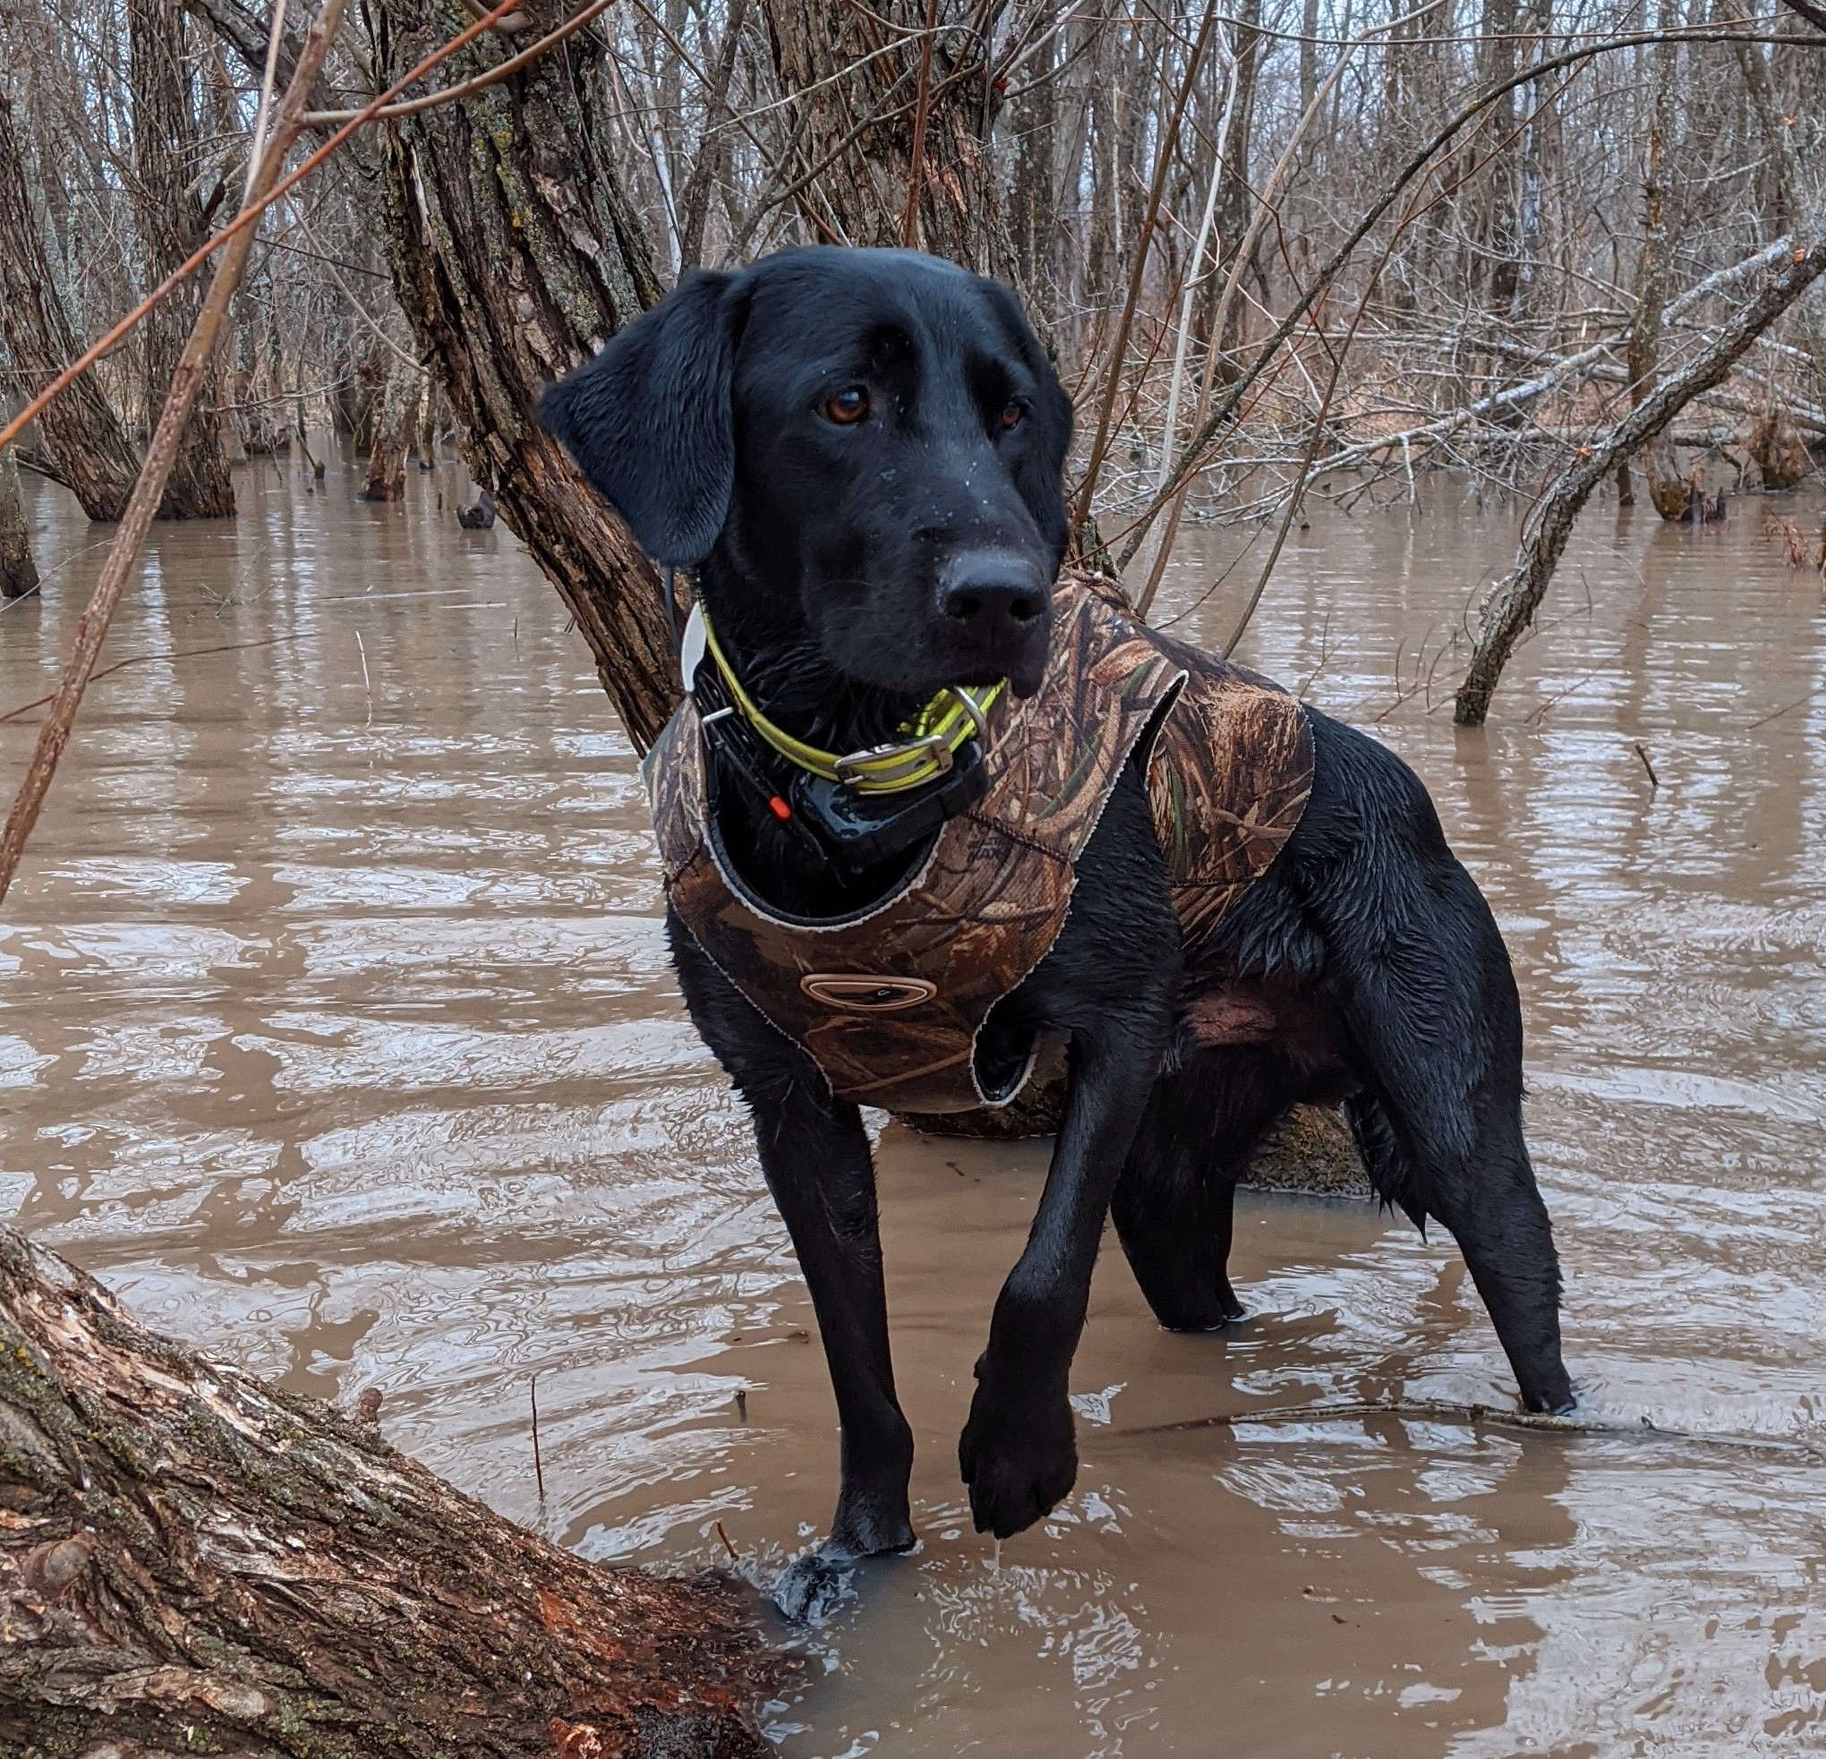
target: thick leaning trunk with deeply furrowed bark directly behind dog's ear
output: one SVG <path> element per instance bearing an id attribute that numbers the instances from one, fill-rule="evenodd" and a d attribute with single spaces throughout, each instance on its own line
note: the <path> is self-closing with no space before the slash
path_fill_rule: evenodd
<path id="1" fill-rule="evenodd" d="M 530 31 L 562 16 L 528 0 Z M 398 79 L 449 33 L 435 0 L 378 0 L 374 73 Z M 484 38 L 460 79 L 506 51 Z M 464 458 L 590 643 L 628 736 L 650 745 L 677 700 L 659 583 L 639 546 L 539 429 L 544 387 L 661 296 L 615 179 L 603 49 L 584 31 L 498 86 L 391 122 L 385 245 L 416 351 L 464 433 Z"/>

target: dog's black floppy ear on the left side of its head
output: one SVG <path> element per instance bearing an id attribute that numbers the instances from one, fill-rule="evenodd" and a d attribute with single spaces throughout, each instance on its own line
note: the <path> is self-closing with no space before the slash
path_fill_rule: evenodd
<path id="1" fill-rule="evenodd" d="M 690 276 L 539 404 L 539 424 L 666 568 L 701 563 L 729 515 L 741 294 L 740 276 Z"/>

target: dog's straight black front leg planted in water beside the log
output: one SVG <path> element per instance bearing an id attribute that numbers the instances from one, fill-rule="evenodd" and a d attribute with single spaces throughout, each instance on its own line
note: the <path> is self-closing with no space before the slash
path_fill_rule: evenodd
<path id="1" fill-rule="evenodd" d="M 913 1430 L 887 1355 L 875 1164 L 856 1107 L 831 1098 L 811 1058 L 767 1023 L 677 919 L 666 928 L 692 1021 L 754 1116 L 761 1171 L 811 1288 L 836 1394 L 844 1476 L 831 1536 L 774 1591 L 789 1618 L 803 1618 L 845 1564 L 913 1543 Z"/>

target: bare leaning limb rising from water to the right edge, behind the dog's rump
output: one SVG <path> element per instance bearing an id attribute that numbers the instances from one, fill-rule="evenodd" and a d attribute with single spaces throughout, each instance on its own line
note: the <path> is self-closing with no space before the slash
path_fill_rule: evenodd
<path id="1" fill-rule="evenodd" d="M 1490 698 L 1521 632 L 1534 621 L 1552 583 L 1554 568 L 1572 535 L 1572 524 L 1590 491 L 1647 440 L 1660 435 L 1695 396 L 1722 384 L 1755 340 L 1826 274 L 1826 241 L 1797 245 L 1786 267 L 1738 309 L 1718 334 L 1678 373 L 1663 378 L 1611 429 L 1609 437 L 1579 449 L 1528 521 L 1516 568 L 1485 601 L 1472 663 L 1459 685 L 1453 720 L 1481 727 Z"/>

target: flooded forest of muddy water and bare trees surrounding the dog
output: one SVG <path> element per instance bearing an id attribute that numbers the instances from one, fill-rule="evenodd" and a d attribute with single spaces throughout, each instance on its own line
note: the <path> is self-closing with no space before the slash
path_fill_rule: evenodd
<path id="1" fill-rule="evenodd" d="M 1817 0 L 0 0 L 0 1759 L 1821 1750 L 1822 93 Z M 772 1604 L 836 1405 L 537 411 L 820 245 L 1012 289 L 1072 563 L 1432 795 L 1570 1417 L 1300 1109 L 997 1542 L 1055 1116 L 866 1111 L 918 1542 Z"/>

